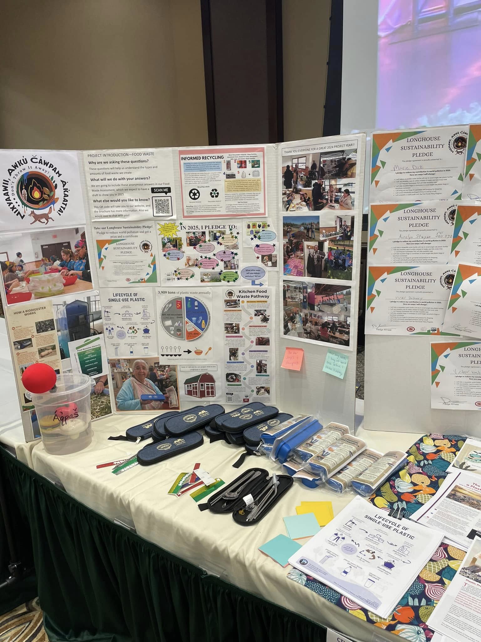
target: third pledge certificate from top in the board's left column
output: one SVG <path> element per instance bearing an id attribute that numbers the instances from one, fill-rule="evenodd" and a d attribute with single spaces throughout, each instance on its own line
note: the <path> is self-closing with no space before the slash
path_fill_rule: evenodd
<path id="1" fill-rule="evenodd" d="M 366 334 L 444 334 L 455 265 L 371 265 Z"/>

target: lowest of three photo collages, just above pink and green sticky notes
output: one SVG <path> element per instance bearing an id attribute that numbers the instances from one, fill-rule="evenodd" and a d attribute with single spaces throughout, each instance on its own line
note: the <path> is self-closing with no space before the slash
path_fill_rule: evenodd
<path id="1" fill-rule="evenodd" d="M 284 279 L 282 297 L 285 336 L 350 345 L 350 288 Z"/>

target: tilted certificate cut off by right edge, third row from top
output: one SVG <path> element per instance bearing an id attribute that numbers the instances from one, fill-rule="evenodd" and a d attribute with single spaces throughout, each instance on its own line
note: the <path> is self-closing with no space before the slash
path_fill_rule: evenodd
<path id="1" fill-rule="evenodd" d="M 481 266 L 460 263 L 448 301 L 446 332 L 481 338 Z"/>

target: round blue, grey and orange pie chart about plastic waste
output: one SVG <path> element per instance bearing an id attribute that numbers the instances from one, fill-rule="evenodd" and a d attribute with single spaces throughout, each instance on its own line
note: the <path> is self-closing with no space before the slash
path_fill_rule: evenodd
<path id="1" fill-rule="evenodd" d="M 173 297 L 160 311 L 160 323 L 171 337 L 194 341 L 207 330 L 210 314 L 196 297 Z"/>

